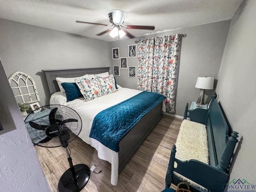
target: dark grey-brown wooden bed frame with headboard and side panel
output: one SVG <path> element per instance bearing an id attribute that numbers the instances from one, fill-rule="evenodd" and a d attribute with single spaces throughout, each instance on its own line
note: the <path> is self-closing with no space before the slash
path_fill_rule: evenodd
<path id="1" fill-rule="evenodd" d="M 46 80 L 50 94 L 60 91 L 56 77 L 78 77 L 85 74 L 99 74 L 109 72 L 110 67 L 102 68 L 80 68 L 80 69 L 60 69 L 60 70 L 42 70 L 46 75 Z M 142 145 L 144 140 L 152 132 L 154 127 L 162 118 L 162 102 L 148 112 L 119 143 L 120 151 L 118 152 L 120 174 L 126 164 Z"/>

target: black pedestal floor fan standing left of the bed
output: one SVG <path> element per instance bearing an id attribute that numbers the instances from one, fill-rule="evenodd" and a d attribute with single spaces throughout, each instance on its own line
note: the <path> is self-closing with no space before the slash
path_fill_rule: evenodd
<path id="1" fill-rule="evenodd" d="M 70 168 L 64 172 L 58 183 L 59 192 L 79 192 L 88 183 L 90 168 L 85 164 L 73 166 L 68 143 L 81 131 L 82 120 L 78 113 L 63 105 L 48 105 L 37 108 L 25 120 L 32 142 L 42 147 L 66 149 Z"/>

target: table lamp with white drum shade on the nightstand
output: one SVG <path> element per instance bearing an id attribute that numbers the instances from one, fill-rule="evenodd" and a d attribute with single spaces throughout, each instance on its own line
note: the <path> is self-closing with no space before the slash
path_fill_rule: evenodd
<path id="1" fill-rule="evenodd" d="M 203 105 L 204 104 L 204 90 L 208 89 L 211 90 L 213 89 L 213 84 L 214 84 L 214 78 L 213 77 L 198 77 L 196 81 L 196 88 L 199 88 L 201 90 L 198 100 L 196 104 Z"/>

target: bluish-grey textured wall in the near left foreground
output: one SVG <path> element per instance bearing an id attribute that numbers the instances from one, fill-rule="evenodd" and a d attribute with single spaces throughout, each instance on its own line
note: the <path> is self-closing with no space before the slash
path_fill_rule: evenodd
<path id="1" fill-rule="evenodd" d="M 50 192 L 0 60 L 0 191 Z"/>

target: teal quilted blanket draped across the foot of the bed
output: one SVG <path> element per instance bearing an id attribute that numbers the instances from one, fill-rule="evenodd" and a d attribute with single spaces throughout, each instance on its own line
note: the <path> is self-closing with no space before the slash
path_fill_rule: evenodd
<path id="1" fill-rule="evenodd" d="M 144 91 L 99 112 L 93 120 L 90 137 L 118 152 L 120 140 L 164 99 L 163 95 Z"/>

